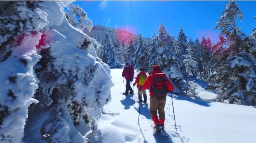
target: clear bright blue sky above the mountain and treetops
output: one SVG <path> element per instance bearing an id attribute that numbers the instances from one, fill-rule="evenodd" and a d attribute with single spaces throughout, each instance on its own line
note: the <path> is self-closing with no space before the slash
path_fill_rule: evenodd
<path id="1" fill-rule="evenodd" d="M 228 1 L 76 1 L 88 14 L 94 25 L 103 25 L 130 31 L 143 37 L 157 34 L 160 23 L 175 38 L 180 25 L 185 35 L 193 40 L 202 36 L 215 43 L 220 30 L 214 30 Z M 256 1 L 236 1 L 243 13 L 237 26 L 249 35 L 256 27 Z"/>

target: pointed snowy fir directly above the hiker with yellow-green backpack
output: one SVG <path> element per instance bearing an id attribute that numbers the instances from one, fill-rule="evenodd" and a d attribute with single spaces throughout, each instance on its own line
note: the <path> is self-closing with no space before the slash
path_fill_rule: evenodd
<path id="1" fill-rule="evenodd" d="M 132 59 L 134 63 L 134 69 L 137 69 L 137 72 L 141 69 L 144 68 L 145 72 L 148 71 L 148 51 L 146 47 L 142 43 L 142 37 L 141 33 L 139 32 L 138 37 L 137 37 L 137 49 L 134 53 L 134 58 Z"/>

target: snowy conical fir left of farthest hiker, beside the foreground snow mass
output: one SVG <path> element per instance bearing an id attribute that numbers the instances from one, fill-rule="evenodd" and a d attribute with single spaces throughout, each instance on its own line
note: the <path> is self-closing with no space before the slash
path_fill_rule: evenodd
<path id="1" fill-rule="evenodd" d="M 107 31 L 103 43 L 104 47 L 102 50 L 103 53 L 101 55 L 102 61 L 106 63 L 110 68 L 122 68 L 122 65 L 116 60 L 113 45 Z"/>

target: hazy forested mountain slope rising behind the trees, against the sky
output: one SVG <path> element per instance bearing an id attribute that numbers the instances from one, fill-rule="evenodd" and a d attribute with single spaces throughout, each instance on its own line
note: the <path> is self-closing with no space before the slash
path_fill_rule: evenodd
<path id="1" fill-rule="evenodd" d="M 104 27 L 102 25 L 93 26 L 90 32 L 88 29 L 84 29 L 83 32 L 96 39 L 101 45 L 96 49 L 96 53 L 100 59 L 102 59 L 102 53 L 106 50 L 106 46 L 109 46 L 107 43 L 104 43 L 104 38 L 107 32 L 116 60 L 121 64 L 124 64 L 125 62 L 133 64 L 132 58 L 137 48 L 136 34 L 121 29 Z M 145 47 L 149 47 L 151 41 L 152 39 L 150 38 L 142 37 L 142 43 Z"/>

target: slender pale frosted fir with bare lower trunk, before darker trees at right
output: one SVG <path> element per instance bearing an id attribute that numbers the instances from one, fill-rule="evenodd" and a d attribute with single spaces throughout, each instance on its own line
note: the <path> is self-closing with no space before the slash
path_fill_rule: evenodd
<path id="1" fill-rule="evenodd" d="M 189 76 L 195 76 L 194 74 L 195 74 L 197 64 L 198 64 L 195 61 L 195 58 L 192 57 L 192 55 L 194 53 L 192 51 L 192 47 L 194 47 L 194 44 L 193 44 L 192 38 L 190 37 L 189 42 L 188 42 L 188 47 L 186 49 L 186 54 L 183 55 L 184 60 L 182 61 L 185 65 L 185 68 L 186 68 L 186 84 L 188 84 L 188 77 Z"/>

